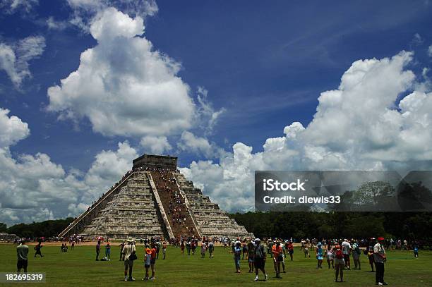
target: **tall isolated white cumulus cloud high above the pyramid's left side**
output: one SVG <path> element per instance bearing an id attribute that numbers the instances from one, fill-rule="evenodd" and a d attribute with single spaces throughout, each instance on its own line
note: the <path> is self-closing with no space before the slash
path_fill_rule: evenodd
<path id="1" fill-rule="evenodd" d="M 78 70 L 61 85 L 49 87 L 49 111 L 88 118 L 103 135 L 161 136 L 191 126 L 195 106 L 176 75 L 180 65 L 140 37 L 142 18 L 107 8 L 90 32 L 97 46 L 81 54 Z"/>

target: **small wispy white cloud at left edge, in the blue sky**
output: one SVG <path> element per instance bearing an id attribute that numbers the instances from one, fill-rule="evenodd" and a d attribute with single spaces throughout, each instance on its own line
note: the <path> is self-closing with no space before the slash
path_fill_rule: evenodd
<path id="1" fill-rule="evenodd" d="M 31 77 L 29 61 L 37 59 L 45 49 L 45 38 L 31 36 L 15 44 L 0 43 L 0 69 L 4 70 L 13 85 L 20 88 L 25 78 Z"/>

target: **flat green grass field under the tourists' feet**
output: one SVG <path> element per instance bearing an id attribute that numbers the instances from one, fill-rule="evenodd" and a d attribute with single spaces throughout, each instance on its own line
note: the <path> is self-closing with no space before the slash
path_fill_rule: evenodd
<path id="1" fill-rule="evenodd" d="M 375 274 L 368 272 L 370 267 L 365 255 L 361 255 L 361 271 L 345 271 L 346 282 L 335 283 L 334 272 L 328 269 L 325 260 L 323 269 L 317 270 L 313 255 L 305 259 L 299 248 L 294 251 L 294 261 L 286 261 L 287 273 L 282 274 L 283 279 L 275 279 L 269 260 L 266 264 L 268 281 L 253 282 L 254 274 L 248 273 L 246 260 L 241 261 L 241 274 L 236 274 L 232 254 L 217 247 L 213 259 L 181 255 L 179 248 L 169 248 L 167 259 L 162 260 L 161 256 L 156 262 L 156 280 L 141 281 L 144 274 L 143 245 L 138 244 L 137 250 L 138 260 L 133 268 L 136 281 L 125 282 L 124 265 L 119 261 L 119 248 L 116 246 L 112 248 L 110 262 L 95 261 L 95 246 L 76 246 L 69 252 L 60 252 L 59 246 L 44 246 L 43 258 L 33 258 L 34 250 L 30 246 L 28 271 L 45 272 L 47 281 L 25 283 L 25 286 L 375 286 Z M 0 254 L 0 272 L 16 271 L 15 246 L 1 244 Z M 408 251 L 388 252 L 384 278 L 389 286 L 432 286 L 432 252 L 420 251 L 419 258 L 414 258 Z M 0 283 L 0 286 L 18 285 Z"/>

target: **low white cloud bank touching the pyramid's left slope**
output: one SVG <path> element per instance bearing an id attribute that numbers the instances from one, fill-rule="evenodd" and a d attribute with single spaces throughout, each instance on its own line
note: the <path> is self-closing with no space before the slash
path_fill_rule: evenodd
<path id="1" fill-rule="evenodd" d="M 11 145 L 28 137 L 30 130 L 27 123 L 8 114 L 0 109 L 0 222 L 9 225 L 78 215 L 138 157 L 128 142 L 120 142 L 115 151 L 97 154 L 86 173 L 65 171 L 47 154 L 13 157 Z"/>

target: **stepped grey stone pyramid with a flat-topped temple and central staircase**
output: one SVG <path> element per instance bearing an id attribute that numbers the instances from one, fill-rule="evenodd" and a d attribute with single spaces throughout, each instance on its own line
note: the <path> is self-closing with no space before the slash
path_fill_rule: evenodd
<path id="1" fill-rule="evenodd" d="M 59 237 L 251 237 L 177 170 L 177 158 L 144 154 Z"/>

